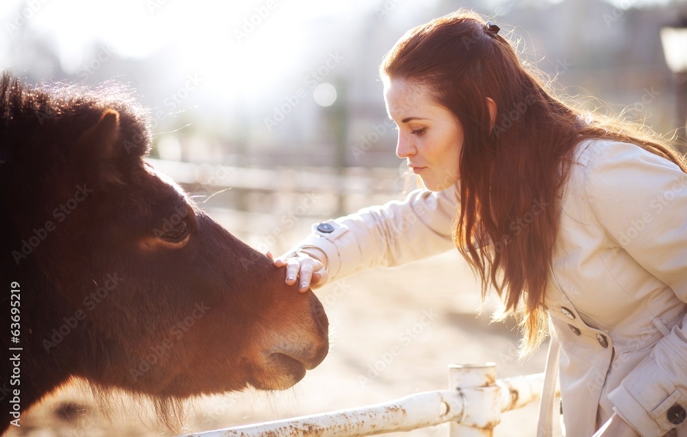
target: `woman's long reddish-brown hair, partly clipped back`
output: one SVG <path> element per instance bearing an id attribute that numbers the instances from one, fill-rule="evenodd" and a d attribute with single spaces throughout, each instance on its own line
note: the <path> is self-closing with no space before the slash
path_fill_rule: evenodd
<path id="1" fill-rule="evenodd" d="M 459 10 L 409 30 L 380 71 L 429 87 L 462 124 L 453 240 L 480 276 L 482 298 L 493 286 L 503 317 L 517 318 L 523 352 L 545 337 L 544 292 L 575 146 L 590 138 L 630 142 L 687 172 L 684 158 L 649 129 L 554 97 L 541 71 L 525 67 L 506 38 L 474 12 Z M 494 121 L 487 98 L 497 106 Z M 523 217 L 526 226 L 519 225 Z"/>

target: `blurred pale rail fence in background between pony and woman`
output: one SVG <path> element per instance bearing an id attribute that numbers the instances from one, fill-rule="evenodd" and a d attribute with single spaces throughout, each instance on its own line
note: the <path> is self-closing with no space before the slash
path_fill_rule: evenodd
<path id="1" fill-rule="evenodd" d="M 311 223 L 331 219 L 369 205 L 400 199 L 414 179 L 398 168 L 273 168 L 147 159 L 189 192 L 229 232 L 261 249 L 271 232 L 280 234 L 286 250 L 305 236 Z M 284 222 L 293 226 L 284 226 Z M 288 227 L 288 229 L 286 229 Z M 283 243 L 283 244 L 281 244 Z"/>

